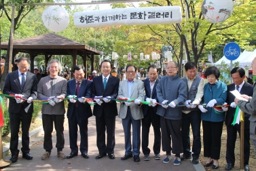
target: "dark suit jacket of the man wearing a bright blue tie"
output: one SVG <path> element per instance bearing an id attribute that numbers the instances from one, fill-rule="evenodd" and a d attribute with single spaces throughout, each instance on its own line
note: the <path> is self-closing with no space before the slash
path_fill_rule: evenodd
<path id="1" fill-rule="evenodd" d="M 111 98 L 117 98 L 118 86 L 120 80 L 117 77 L 113 77 L 109 75 L 109 79 L 107 80 L 107 86 L 104 90 L 103 88 L 103 76 L 94 77 L 92 79 L 92 98 L 95 96 L 111 96 Z M 93 108 L 93 115 L 96 117 L 100 117 L 103 114 L 103 111 L 106 116 L 114 117 L 117 113 L 117 106 L 114 100 L 110 102 L 104 102 L 101 105 L 95 104 Z"/>

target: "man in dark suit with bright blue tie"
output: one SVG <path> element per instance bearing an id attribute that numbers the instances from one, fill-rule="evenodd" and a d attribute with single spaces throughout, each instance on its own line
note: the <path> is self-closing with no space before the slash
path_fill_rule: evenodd
<path id="1" fill-rule="evenodd" d="M 95 99 L 97 104 L 94 105 L 93 109 L 93 115 L 96 117 L 96 141 L 99 152 L 95 158 L 100 159 L 108 154 L 110 159 L 115 159 L 115 116 L 117 115 L 117 106 L 114 100 L 109 100 L 106 97 L 117 97 L 120 81 L 110 74 L 111 63 L 109 60 L 101 62 L 100 71 L 103 74 L 92 79 L 92 97 L 104 97 L 103 101 Z M 106 128 L 107 145 L 105 142 Z"/>

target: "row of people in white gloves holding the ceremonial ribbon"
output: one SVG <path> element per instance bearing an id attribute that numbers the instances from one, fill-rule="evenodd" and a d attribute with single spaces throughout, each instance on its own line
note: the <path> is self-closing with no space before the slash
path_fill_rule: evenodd
<path id="1" fill-rule="evenodd" d="M 10 151 L 12 152 L 10 160 L 12 162 L 16 162 L 18 159 L 20 121 L 22 122 L 22 157 L 33 159 L 33 156 L 29 154 L 29 126 L 33 113 L 33 100 L 43 99 L 48 100 L 48 103 L 43 103 L 41 109 L 45 132 L 43 141 L 45 153 L 41 157 L 43 160 L 48 159 L 52 152 L 53 126 L 56 129 L 56 148 L 60 159 L 75 157 L 79 151 L 84 158 L 88 158 L 88 118 L 92 115 L 96 118 L 98 155 L 95 158 L 100 159 L 108 155 L 109 159 L 115 159 L 115 117 L 118 115 L 122 119 L 125 140 L 125 152 L 122 160 L 133 157 L 135 162 L 139 162 L 141 148 L 143 159 L 150 159 L 149 129 L 152 125 L 154 158 L 161 159 L 162 145 L 162 151 L 166 152 L 163 162 L 169 163 L 171 153 L 173 153 L 175 154 L 174 165 L 179 165 L 182 160 L 191 159 L 191 157 L 193 157 L 192 163 L 198 164 L 202 147 L 200 135 L 202 120 L 204 157 L 207 157 L 205 166 L 212 166 L 213 169 L 219 168 L 221 134 L 223 121 L 225 121 L 227 126 L 227 166 L 225 169 L 231 170 L 235 161 L 236 134 L 237 132 L 240 134 L 240 126 L 238 124 L 232 126 L 236 105 L 238 105 L 246 111 L 244 117 L 244 170 L 249 170 L 249 122 L 251 121 L 251 127 L 255 128 L 254 121 L 256 119 L 253 115 L 256 109 L 253 86 L 244 81 L 245 72 L 242 68 L 232 69 L 230 74 L 234 83 L 229 86 L 218 80 L 220 71 L 217 67 L 206 69 L 204 75 L 208 79 L 208 83 L 204 84 L 204 79 L 197 75 L 197 66 L 194 62 L 185 64 L 187 76 L 182 78 L 179 77 L 177 62 L 168 62 L 167 75 L 161 79 L 158 79 L 158 68 L 152 64 L 147 69 L 149 77 L 142 81 L 136 79 L 138 73 L 136 67 L 128 64 L 124 71 L 126 79 L 120 81 L 119 78 L 111 75 L 111 62 L 103 60 L 100 64 L 102 75 L 93 77 L 92 81 L 84 79 L 85 68 L 81 65 L 73 68 L 74 79 L 67 81 L 58 76 L 62 70 L 60 62 L 51 60 L 47 67 L 49 75 L 42 77 L 37 85 L 37 76 L 27 72 L 29 64 L 28 58 L 19 58 L 18 71 L 7 74 L 3 88 L 3 94 L 14 94 L 15 97 L 10 98 L 9 105 Z M 123 77 L 124 74 L 122 74 Z M 235 100 L 234 95 L 230 92 L 232 90 L 238 90 L 241 94 L 245 94 L 242 96 L 249 102 L 241 99 Z M 69 98 L 67 117 L 71 148 L 71 153 L 67 156 L 62 152 L 65 145 L 63 135 L 65 104 L 62 98 L 66 97 Z M 94 100 L 93 112 L 90 102 L 86 101 L 86 98 Z M 117 102 L 111 100 L 116 98 L 121 100 L 119 112 L 117 111 Z M 134 101 L 130 102 L 130 99 Z M 141 104 L 141 101 L 147 101 L 149 104 Z M 228 108 L 223 106 L 221 112 L 216 112 L 213 108 L 223 104 L 230 104 L 230 106 Z M 182 105 L 182 107 L 177 105 Z M 81 136 L 79 149 L 77 125 Z M 189 138 L 190 126 L 193 132 L 192 149 Z M 255 139 L 254 136 L 255 130 L 251 132 L 251 138 Z"/>

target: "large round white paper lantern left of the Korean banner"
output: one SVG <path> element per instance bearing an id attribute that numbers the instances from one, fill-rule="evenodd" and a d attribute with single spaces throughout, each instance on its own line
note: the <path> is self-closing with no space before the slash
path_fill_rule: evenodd
<path id="1" fill-rule="evenodd" d="M 50 31 L 59 32 L 69 26 L 69 14 L 60 6 L 47 7 L 42 14 L 43 25 Z"/>

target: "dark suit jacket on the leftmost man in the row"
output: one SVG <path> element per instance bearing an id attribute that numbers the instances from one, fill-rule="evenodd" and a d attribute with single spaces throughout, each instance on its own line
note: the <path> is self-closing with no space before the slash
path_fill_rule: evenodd
<path id="1" fill-rule="evenodd" d="M 24 98 L 37 99 L 37 76 L 31 72 L 26 72 L 26 82 L 22 90 L 18 70 L 8 73 L 3 86 L 3 94 L 22 94 Z M 26 113 L 33 113 L 33 102 L 28 103 L 25 100 L 23 106 Z M 21 107 L 22 103 L 17 103 L 15 98 L 10 98 L 9 113 L 19 113 Z"/>

